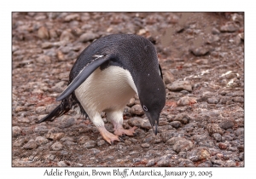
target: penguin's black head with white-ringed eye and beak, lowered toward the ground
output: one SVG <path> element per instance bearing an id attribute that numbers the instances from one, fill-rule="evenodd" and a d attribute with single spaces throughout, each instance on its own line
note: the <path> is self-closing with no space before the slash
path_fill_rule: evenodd
<path id="1" fill-rule="evenodd" d="M 166 88 L 162 78 L 159 76 L 159 78 L 143 80 L 139 85 L 138 93 L 143 111 L 156 135 L 160 112 L 166 105 Z"/>

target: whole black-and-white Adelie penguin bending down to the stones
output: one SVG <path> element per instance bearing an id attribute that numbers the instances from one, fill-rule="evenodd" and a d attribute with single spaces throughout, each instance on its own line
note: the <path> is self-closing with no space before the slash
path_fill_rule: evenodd
<path id="1" fill-rule="evenodd" d="M 90 43 L 79 55 L 66 90 L 56 99 L 61 104 L 38 123 L 52 121 L 79 104 L 81 113 L 112 144 L 120 141 L 119 136 L 133 136 L 137 129 L 122 126 L 125 105 L 135 94 L 156 135 L 166 89 L 154 44 L 137 35 L 108 35 Z M 112 122 L 114 134 L 104 127 L 102 112 Z"/>

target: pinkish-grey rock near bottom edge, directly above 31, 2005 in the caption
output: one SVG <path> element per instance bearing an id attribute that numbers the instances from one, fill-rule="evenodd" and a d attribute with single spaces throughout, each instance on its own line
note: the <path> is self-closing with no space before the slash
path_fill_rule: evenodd
<path id="1" fill-rule="evenodd" d="M 187 159 L 190 159 L 193 162 L 210 159 L 210 156 L 211 153 L 207 147 L 195 147 L 187 153 Z"/>

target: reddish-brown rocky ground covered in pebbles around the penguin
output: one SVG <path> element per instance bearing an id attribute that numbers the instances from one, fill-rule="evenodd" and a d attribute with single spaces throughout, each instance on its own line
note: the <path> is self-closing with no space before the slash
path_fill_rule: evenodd
<path id="1" fill-rule="evenodd" d="M 13 166 L 244 166 L 244 14 L 13 13 L 12 25 Z M 37 124 L 59 104 L 79 53 L 119 32 L 158 50 L 166 83 L 160 133 L 137 96 L 124 112 L 137 136 L 112 146 L 75 110 Z"/>

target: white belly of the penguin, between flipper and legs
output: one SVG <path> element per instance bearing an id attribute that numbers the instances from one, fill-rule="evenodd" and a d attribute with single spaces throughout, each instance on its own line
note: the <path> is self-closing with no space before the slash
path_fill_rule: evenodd
<path id="1" fill-rule="evenodd" d="M 123 110 L 125 104 L 137 93 L 131 73 L 119 66 L 108 66 L 90 74 L 75 90 L 75 95 L 90 116 L 102 111 Z"/>

